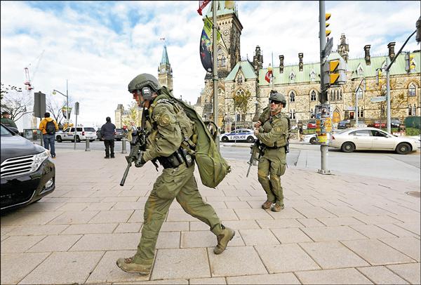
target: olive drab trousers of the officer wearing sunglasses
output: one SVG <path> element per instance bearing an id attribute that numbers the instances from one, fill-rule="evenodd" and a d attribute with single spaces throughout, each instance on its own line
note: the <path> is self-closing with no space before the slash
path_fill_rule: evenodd
<path id="1" fill-rule="evenodd" d="M 286 169 L 285 148 L 266 149 L 260 157 L 258 180 L 267 194 L 267 200 L 283 204 L 281 175 Z"/>

